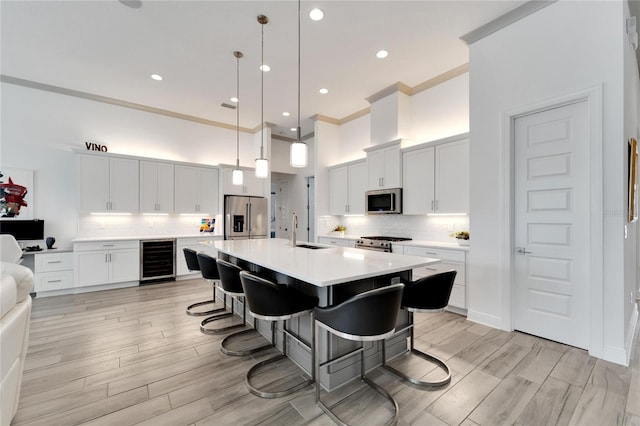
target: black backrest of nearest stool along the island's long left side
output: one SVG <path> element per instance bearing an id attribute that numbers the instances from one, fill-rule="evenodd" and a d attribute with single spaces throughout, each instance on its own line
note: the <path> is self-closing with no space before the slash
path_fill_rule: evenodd
<path id="1" fill-rule="evenodd" d="M 240 280 L 249 311 L 254 314 L 284 317 L 310 311 L 318 304 L 317 297 L 307 296 L 246 271 L 240 272 Z"/>

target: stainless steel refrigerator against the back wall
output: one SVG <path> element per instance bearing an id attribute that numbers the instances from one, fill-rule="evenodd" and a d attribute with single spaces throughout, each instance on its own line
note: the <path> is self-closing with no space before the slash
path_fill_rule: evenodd
<path id="1" fill-rule="evenodd" d="M 269 215 L 267 199 L 264 197 L 224 197 L 224 238 L 245 240 L 267 238 Z"/>

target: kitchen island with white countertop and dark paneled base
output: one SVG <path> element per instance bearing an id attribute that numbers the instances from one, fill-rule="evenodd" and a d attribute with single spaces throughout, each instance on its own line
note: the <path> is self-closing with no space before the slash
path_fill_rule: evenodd
<path id="1" fill-rule="evenodd" d="M 292 286 L 301 293 L 315 295 L 320 306 L 334 305 L 363 291 L 409 280 L 413 268 L 439 262 L 438 259 L 428 257 L 322 244 L 299 243 L 298 246 L 292 247 L 288 240 L 277 238 L 210 241 L 206 244 L 217 249 L 218 257 L 221 259 L 263 278 Z M 407 321 L 406 312 L 400 311 L 398 325 L 406 325 Z M 309 316 L 291 320 L 287 326 L 303 339 L 310 339 Z M 259 322 L 258 330 L 265 337 L 270 336 L 267 323 Z M 280 344 L 278 342 L 278 345 Z M 320 345 L 320 359 L 324 360 L 329 356 L 334 358 L 349 352 L 357 347 L 358 343 L 321 332 Z M 310 354 L 299 345 L 291 344 L 288 348 L 289 357 L 310 373 Z M 387 353 L 392 357 L 405 349 L 406 339 L 401 335 L 388 342 Z M 381 362 L 380 345 L 377 342 L 367 342 L 366 368 L 373 368 Z M 323 371 L 320 383 L 326 389 L 333 389 L 358 377 L 359 371 L 359 360 L 352 357 L 332 365 L 328 371 Z"/>

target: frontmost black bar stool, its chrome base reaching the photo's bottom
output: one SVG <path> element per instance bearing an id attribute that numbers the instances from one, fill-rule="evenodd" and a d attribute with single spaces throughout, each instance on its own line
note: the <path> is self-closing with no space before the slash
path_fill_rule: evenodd
<path id="1" fill-rule="evenodd" d="M 315 364 L 315 376 L 318 378 L 316 380 L 316 403 L 322 408 L 322 411 L 340 425 L 345 423 L 331 411 L 331 407 L 326 406 L 320 399 L 320 368 L 358 353 L 360 354 L 360 379 L 393 404 L 394 415 L 387 424 L 395 424 L 398 421 L 399 409 L 396 400 L 389 392 L 366 377 L 364 342 L 384 340 L 393 335 L 400 311 L 403 289 L 403 284 L 394 284 L 357 294 L 336 306 L 314 309 L 316 326 L 343 339 L 363 342 L 359 348 L 322 363 L 319 362 L 319 357 L 316 355 L 316 360 L 318 360 Z M 316 330 L 316 348 L 319 348 L 318 334 Z M 340 402 L 342 401 L 337 402 L 334 406 Z"/>

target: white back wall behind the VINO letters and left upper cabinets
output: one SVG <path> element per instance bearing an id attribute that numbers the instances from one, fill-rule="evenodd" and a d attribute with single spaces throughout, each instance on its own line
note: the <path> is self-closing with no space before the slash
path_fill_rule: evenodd
<path id="1" fill-rule="evenodd" d="M 70 246 L 80 231 L 76 213 L 76 166 L 72 148 L 85 141 L 109 152 L 199 164 L 235 164 L 235 130 L 135 109 L 2 83 L 0 167 L 34 170 L 34 217 L 45 219 L 56 246 Z M 259 138 L 257 138 L 259 146 Z M 266 149 L 267 147 L 265 147 Z M 253 167 L 255 137 L 240 133 L 240 164 Z M 82 217 L 83 229 L 95 221 Z M 98 219 L 96 219 L 98 220 Z M 102 234 L 136 230 L 141 235 L 196 228 L 195 219 L 100 219 Z M 218 229 L 221 230 L 221 225 Z M 217 229 L 217 230 L 218 230 Z"/>

